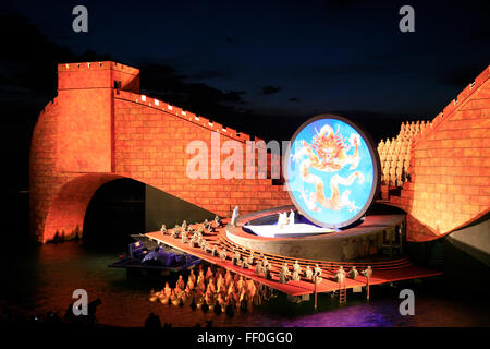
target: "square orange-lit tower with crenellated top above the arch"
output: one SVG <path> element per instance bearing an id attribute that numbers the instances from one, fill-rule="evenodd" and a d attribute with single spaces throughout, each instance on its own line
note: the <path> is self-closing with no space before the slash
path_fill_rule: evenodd
<path id="1" fill-rule="evenodd" d="M 114 84 L 138 88 L 138 74 L 137 69 L 113 62 L 58 67 L 58 112 L 63 117 L 57 122 L 57 170 L 112 170 L 112 91 Z"/>

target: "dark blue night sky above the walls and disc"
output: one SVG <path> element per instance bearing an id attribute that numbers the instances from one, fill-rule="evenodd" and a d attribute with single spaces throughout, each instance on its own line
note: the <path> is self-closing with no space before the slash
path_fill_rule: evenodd
<path id="1" fill-rule="evenodd" d="M 88 9 L 88 33 L 72 9 Z M 401 33 L 399 9 L 415 9 Z M 265 139 L 334 112 L 376 140 L 431 119 L 489 64 L 489 1 L 3 1 L 2 147 L 22 183 L 56 63 L 112 59 L 143 93 Z M 5 111 L 7 110 L 7 111 Z"/>

